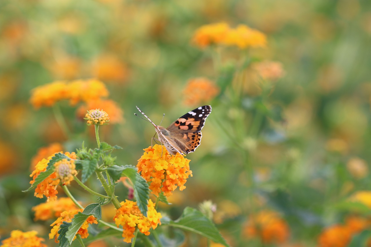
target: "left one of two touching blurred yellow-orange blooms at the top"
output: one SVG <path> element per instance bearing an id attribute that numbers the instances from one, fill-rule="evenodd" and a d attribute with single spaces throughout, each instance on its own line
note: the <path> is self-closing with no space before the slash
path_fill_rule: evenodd
<path id="1" fill-rule="evenodd" d="M 229 31 L 230 27 L 224 22 L 204 25 L 196 30 L 192 41 L 198 47 L 205 48 L 220 43 Z"/>

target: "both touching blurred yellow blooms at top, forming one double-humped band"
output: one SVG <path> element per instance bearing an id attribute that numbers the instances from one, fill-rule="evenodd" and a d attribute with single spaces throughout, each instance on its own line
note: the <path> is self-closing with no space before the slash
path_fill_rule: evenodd
<path id="1" fill-rule="evenodd" d="M 248 47 L 265 47 L 267 38 L 264 33 L 244 24 L 231 28 L 227 23 L 215 23 L 201 26 L 193 35 L 193 43 L 204 48 L 213 44 Z"/>

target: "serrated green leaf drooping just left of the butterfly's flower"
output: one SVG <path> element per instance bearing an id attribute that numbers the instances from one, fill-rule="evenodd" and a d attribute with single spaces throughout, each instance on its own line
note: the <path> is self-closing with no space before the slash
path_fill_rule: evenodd
<path id="1" fill-rule="evenodd" d="M 139 210 L 144 216 L 147 216 L 147 204 L 150 199 L 150 190 L 148 189 L 147 181 L 139 175 L 137 168 L 132 165 L 118 166 L 112 165 L 107 168 L 109 175 L 114 181 L 119 180 L 121 177 L 128 177 L 133 184 L 134 197 L 137 200 Z"/>

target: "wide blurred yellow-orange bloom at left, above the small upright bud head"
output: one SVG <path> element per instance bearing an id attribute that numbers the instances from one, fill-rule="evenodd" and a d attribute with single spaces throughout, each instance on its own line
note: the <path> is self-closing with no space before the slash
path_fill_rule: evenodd
<path id="1" fill-rule="evenodd" d="M 71 105 L 75 105 L 80 101 L 88 102 L 106 96 L 106 86 L 96 79 L 56 81 L 34 88 L 30 102 L 38 109 L 41 106 L 53 106 L 61 100 L 69 100 Z"/>

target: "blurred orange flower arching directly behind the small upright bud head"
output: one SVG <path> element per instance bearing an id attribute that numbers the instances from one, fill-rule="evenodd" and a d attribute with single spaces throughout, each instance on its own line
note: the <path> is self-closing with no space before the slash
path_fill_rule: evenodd
<path id="1" fill-rule="evenodd" d="M 95 101 L 88 101 L 76 110 L 78 118 L 83 118 L 88 109 L 104 109 L 109 116 L 109 123 L 124 122 L 122 109 L 118 104 L 110 99 L 98 99 Z"/>

